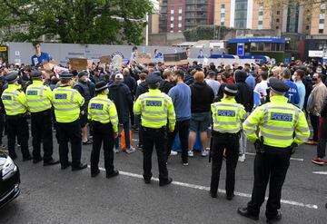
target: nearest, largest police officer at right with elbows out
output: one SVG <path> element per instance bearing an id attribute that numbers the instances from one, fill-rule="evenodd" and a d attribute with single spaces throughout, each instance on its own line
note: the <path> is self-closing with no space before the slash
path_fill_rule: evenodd
<path id="1" fill-rule="evenodd" d="M 304 113 L 288 103 L 284 93 L 289 87 L 281 80 L 270 79 L 270 100 L 258 107 L 243 123 L 243 131 L 254 143 L 257 151 L 254 160 L 254 184 L 252 199 L 246 208 L 238 212 L 250 219 L 259 219 L 268 181 L 269 199 L 265 215 L 267 222 L 282 218 L 281 208 L 282 184 L 290 166 L 290 157 L 295 147 L 305 142 L 310 131 Z M 257 125 L 260 128 L 258 137 Z"/>

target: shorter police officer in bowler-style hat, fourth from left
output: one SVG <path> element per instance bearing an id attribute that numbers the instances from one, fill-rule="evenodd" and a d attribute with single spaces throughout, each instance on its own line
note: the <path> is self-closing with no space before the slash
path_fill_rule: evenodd
<path id="1" fill-rule="evenodd" d="M 118 115 L 114 102 L 108 99 L 108 86 L 104 81 L 95 84 L 97 94 L 88 104 L 88 119 L 94 129 L 94 141 L 91 152 L 91 177 L 99 172 L 99 156 L 104 143 L 104 168 L 106 178 L 119 174 L 114 170 L 114 137 L 118 137 Z"/>

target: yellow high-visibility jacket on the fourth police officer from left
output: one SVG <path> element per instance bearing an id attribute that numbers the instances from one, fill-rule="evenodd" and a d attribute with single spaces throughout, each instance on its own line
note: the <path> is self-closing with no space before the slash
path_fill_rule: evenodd
<path id="1" fill-rule="evenodd" d="M 107 95 L 98 94 L 88 103 L 88 119 L 95 122 L 113 125 L 114 132 L 118 131 L 118 115 L 114 102 Z"/>

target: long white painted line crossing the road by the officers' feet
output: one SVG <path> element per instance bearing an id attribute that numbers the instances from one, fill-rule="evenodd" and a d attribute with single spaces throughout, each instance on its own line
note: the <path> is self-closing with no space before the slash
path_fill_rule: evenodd
<path id="1" fill-rule="evenodd" d="M 90 166 L 87 166 L 87 167 L 91 168 Z M 105 171 L 105 169 L 102 168 L 102 167 L 100 167 L 99 170 Z M 133 172 L 126 172 L 126 171 L 119 170 L 119 174 L 127 176 L 127 177 L 143 179 L 142 175 L 136 174 L 136 173 L 133 173 Z M 157 179 L 157 178 L 152 178 L 151 180 L 159 181 L 159 179 Z M 192 183 L 184 183 L 184 182 L 180 182 L 180 181 L 173 181 L 172 184 L 177 185 L 177 186 L 181 186 L 181 187 L 195 189 L 195 190 L 206 190 L 206 191 L 210 190 L 209 187 L 205 187 L 205 186 L 201 186 L 201 185 L 197 185 L 197 184 L 192 184 Z M 221 189 L 218 189 L 218 192 L 226 193 L 225 190 L 221 190 Z M 234 192 L 234 194 L 237 195 L 237 196 L 240 196 L 240 197 L 244 197 L 244 198 L 251 198 L 251 194 L 247 194 L 247 193 Z M 265 200 L 268 200 L 268 198 L 265 198 Z M 283 204 L 293 205 L 293 206 L 297 206 L 297 207 L 304 207 L 304 208 L 307 208 L 307 209 L 318 209 L 317 205 L 304 204 L 302 202 L 297 202 L 297 201 L 293 201 L 293 200 L 281 200 L 281 202 Z"/>

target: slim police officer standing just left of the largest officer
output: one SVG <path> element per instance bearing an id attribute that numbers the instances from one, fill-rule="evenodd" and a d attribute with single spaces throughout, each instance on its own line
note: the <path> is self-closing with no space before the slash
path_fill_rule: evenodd
<path id="1" fill-rule="evenodd" d="M 232 200 L 234 196 L 235 170 L 240 148 L 240 131 L 245 110 L 242 104 L 235 101 L 238 93 L 236 84 L 227 84 L 221 102 L 214 102 L 211 106 L 213 114 L 213 143 L 211 156 L 213 158 L 210 194 L 217 197 L 220 171 L 223 163 L 223 151 L 226 150 L 226 196 Z"/>

